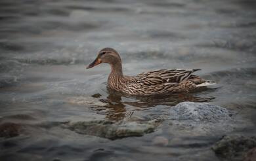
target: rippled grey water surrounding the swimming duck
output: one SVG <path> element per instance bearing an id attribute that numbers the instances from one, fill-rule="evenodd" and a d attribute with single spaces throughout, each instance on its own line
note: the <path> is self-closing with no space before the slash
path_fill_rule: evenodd
<path id="1" fill-rule="evenodd" d="M 161 105 L 181 101 L 209 101 L 255 123 L 255 8 L 249 0 L 0 1 L 0 121 L 22 127 L 16 137 L 1 137 L 0 160 L 217 160 L 210 147 L 219 137 L 179 137 L 165 122 L 114 141 L 58 124 L 149 120 L 163 115 Z M 201 68 L 198 75 L 219 86 L 161 98 L 112 94 L 108 65 L 85 70 L 106 46 L 121 54 L 126 75 Z M 67 101 L 90 96 L 106 105 Z M 154 145 L 156 137 L 168 145 Z"/>

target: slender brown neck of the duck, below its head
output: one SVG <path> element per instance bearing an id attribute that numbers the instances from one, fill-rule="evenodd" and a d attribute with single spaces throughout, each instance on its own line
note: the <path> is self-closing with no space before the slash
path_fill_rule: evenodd
<path id="1" fill-rule="evenodd" d="M 122 65 L 121 65 L 121 62 L 117 62 L 115 64 L 110 64 L 110 65 L 111 65 L 111 73 L 108 77 L 108 86 L 110 86 L 110 88 L 115 89 L 117 88 L 117 86 L 121 85 L 124 78 Z"/>

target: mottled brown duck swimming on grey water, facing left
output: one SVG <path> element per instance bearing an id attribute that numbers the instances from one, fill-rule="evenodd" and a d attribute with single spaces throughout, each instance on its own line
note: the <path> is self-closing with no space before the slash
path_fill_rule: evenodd
<path id="1" fill-rule="evenodd" d="M 111 67 L 108 88 L 133 96 L 190 92 L 216 84 L 213 80 L 205 80 L 192 75 L 201 69 L 158 69 L 140 73 L 134 77 L 123 75 L 121 57 L 114 48 L 100 50 L 96 59 L 86 68 L 90 69 L 100 63 L 108 63 Z"/>

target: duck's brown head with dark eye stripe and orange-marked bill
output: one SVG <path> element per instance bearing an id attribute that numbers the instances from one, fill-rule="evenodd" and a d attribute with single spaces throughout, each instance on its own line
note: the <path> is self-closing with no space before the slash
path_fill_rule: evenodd
<path id="1" fill-rule="evenodd" d="M 115 65 L 117 63 L 121 63 L 121 58 L 114 48 L 103 48 L 98 52 L 98 56 L 95 61 L 90 63 L 86 69 L 94 67 L 100 63 L 109 63 L 110 65 Z"/>

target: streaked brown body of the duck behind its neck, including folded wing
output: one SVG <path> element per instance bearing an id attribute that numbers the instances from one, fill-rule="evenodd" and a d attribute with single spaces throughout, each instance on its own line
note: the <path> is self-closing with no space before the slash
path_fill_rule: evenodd
<path id="1" fill-rule="evenodd" d="M 198 70 L 200 69 L 160 69 L 140 73 L 136 77 L 129 77 L 131 81 L 123 86 L 123 92 L 132 95 L 152 95 L 188 91 L 206 81 L 192 75 Z"/>

